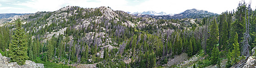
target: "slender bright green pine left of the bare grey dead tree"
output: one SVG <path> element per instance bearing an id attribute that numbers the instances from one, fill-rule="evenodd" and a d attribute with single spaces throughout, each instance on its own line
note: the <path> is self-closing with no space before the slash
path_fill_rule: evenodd
<path id="1" fill-rule="evenodd" d="M 239 56 L 240 56 L 240 46 L 238 43 L 238 34 L 236 33 L 234 36 L 234 49 L 232 50 L 232 64 L 237 63 L 239 61 Z"/>

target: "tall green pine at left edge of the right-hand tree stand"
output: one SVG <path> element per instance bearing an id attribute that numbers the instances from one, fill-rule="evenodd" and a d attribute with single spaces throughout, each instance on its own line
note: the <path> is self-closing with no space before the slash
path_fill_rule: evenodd
<path id="1" fill-rule="evenodd" d="M 212 21 L 209 34 L 210 34 L 210 37 L 207 39 L 207 51 L 206 51 L 206 53 L 208 54 L 212 52 L 212 49 L 215 46 L 215 44 L 218 44 L 218 27 L 215 19 Z"/>

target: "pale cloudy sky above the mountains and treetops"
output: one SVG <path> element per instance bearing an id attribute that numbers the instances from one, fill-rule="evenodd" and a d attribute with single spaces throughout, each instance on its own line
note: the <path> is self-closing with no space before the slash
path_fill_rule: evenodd
<path id="1" fill-rule="evenodd" d="M 221 14 L 235 10 L 241 0 L 0 0 L 0 14 L 36 13 L 38 11 L 55 11 L 68 5 L 83 8 L 109 6 L 113 10 L 125 12 L 143 12 L 153 10 L 157 13 L 179 14 L 185 10 L 197 9 Z M 245 0 L 249 3 L 249 0 Z M 251 7 L 256 8 L 256 0 Z"/>

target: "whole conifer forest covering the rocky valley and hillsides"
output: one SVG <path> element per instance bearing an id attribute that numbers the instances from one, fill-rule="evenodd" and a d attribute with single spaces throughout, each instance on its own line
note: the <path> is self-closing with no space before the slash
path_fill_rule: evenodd
<path id="1" fill-rule="evenodd" d="M 0 53 L 45 68 L 242 68 L 256 56 L 255 38 L 256 10 L 245 1 L 194 19 L 67 6 L 1 25 Z"/>

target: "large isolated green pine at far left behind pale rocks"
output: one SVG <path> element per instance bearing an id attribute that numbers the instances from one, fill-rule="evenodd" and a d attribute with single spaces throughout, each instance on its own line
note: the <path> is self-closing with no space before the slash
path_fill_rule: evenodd
<path id="1" fill-rule="evenodd" d="M 27 38 L 24 29 L 22 29 L 22 21 L 20 19 L 16 20 L 16 29 L 13 32 L 9 56 L 11 62 L 23 65 L 29 57 L 27 56 Z"/>

